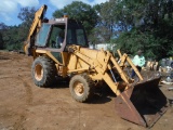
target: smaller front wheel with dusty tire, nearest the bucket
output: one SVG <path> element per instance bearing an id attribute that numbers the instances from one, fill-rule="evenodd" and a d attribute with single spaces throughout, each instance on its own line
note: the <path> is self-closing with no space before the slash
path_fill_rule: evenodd
<path id="1" fill-rule="evenodd" d="M 93 81 L 88 75 L 76 75 L 70 79 L 69 90 L 76 101 L 88 102 L 94 93 Z"/>

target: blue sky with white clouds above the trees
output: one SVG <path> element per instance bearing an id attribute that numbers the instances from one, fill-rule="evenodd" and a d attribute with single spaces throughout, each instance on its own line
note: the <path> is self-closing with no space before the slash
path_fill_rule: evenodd
<path id="1" fill-rule="evenodd" d="M 1 0 L 0 23 L 4 23 L 8 26 L 18 25 L 22 23 L 22 21 L 17 18 L 21 8 L 35 6 L 36 9 L 40 9 L 43 4 L 48 5 L 45 16 L 52 18 L 54 11 L 63 9 L 72 1 L 82 1 L 94 5 L 108 0 Z"/>

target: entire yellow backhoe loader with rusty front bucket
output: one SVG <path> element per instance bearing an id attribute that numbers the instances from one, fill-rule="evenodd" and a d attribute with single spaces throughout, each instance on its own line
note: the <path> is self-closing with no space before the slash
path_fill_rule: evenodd
<path id="1" fill-rule="evenodd" d="M 109 51 L 89 49 L 80 22 L 67 16 L 43 21 L 45 10 L 46 5 L 43 5 L 36 12 L 24 47 L 34 57 L 31 76 L 35 84 L 49 87 L 56 76 L 68 77 L 71 96 L 83 103 L 92 100 L 95 86 L 104 81 L 116 94 L 115 108 L 120 117 L 151 127 L 168 109 L 167 98 L 158 88 L 160 77 L 143 78 L 128 54 L 120 51 L 117 62 Z M 127 62 L 138 80 L 125 74 Z"/>

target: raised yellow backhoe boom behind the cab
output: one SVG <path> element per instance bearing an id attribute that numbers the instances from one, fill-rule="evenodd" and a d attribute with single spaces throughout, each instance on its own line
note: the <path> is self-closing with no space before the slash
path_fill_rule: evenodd
<path id="1" fill-rule="evenodd" d="M 40 30 L 41 23 L 43 21 L 44 14 L 46 12 L 48 6 L 42 5 L 36 13 L 32 24 L 30 26 L 27 40 L 24 42 L 24 52 L 27 54 L 28 48 L 34 44 L 32 39 L 35 38 L 36 34 Z"/>

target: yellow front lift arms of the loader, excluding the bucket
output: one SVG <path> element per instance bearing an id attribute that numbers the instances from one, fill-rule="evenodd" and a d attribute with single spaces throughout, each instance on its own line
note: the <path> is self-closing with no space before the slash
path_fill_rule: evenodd
<path id="1" fill-rule="evenodd" d="M 82 60 L 86 64 L 89 64 L 90 69 L 94 69 L 97 75 L 110 87 L 110 89 L 115 92 L 116 95 L 119 95 L 121 92 L 119 90 L 120 83 L 116 81 L 114 74 L 108 75 L 108 70 L 112 72 L 112 68 L 116 68 L 120 74 L 120 77 L 125 82 L 125 88 L 128 89 L 131 86 L 132 80 L 128 78 L 122 68 L 118 65 L 117 61 L 112 56 L 112 54 L 108 51 L 99 51 L 98 55 L 103 55 L 104 62 L 99 62 L 98 58 L 91 58 L 88 55 L 84 55 L 80 52 L 79 46 L 71 46 L 68 48 L 70 52 L 72 52 L 78 58 Z M 114 65 L 114 66 L 112 66 Z M 76 69 L 78 72 L 78 69 Z M 88 69 L 86 69 L 88 70 Z"/>

